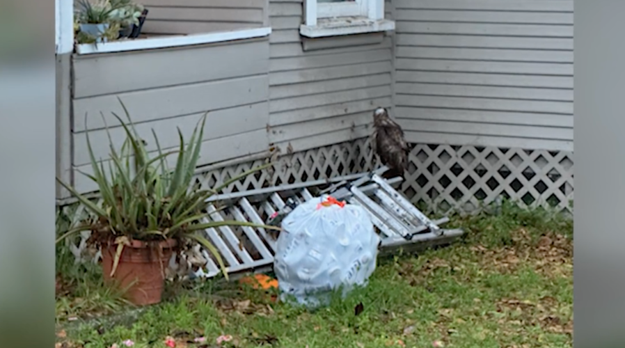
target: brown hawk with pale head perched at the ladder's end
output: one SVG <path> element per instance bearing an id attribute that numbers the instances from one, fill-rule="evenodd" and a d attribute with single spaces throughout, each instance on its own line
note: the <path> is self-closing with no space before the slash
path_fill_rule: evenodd
<path id="1" fill-rule="evenodd" d="M 373 153 L 389 168 L 383 176 L 403 177 L 408 167 L 409 148 L 402 127 L 390 119 L 386 109 L 378 108 L 373 113 L 373 129 L 371 139 Z"/>

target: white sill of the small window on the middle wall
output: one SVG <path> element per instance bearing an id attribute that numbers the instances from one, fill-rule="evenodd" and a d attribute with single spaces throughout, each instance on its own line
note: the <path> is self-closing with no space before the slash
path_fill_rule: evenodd
<path id="1" fill-rule="evenodd" d="M 372 20 L 364 17 L 324 18 L 316 26 L 302 24 L 299 33 L 306 38 L 378 33 L 395 30 L 395 22 L 388 19 Z"/>

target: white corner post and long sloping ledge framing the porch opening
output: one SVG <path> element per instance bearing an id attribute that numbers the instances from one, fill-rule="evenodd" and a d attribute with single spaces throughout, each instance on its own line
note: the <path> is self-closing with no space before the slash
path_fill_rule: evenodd
<path id="1" fill-rule="evenodd" d="M 271 34 L 271 27 L 216 31 L 190 35 L 166 36 L 163 38 L 145 38 L 120 40 L 74 46 L 74 0 L 55 0 L 56 13 L 56 54 L 98 54 L 112 52 L 139 51 L 166 47 L 184 47 L 205 45 L 215 42 L 227 42 L 251 38 L 263 38 Z"/>

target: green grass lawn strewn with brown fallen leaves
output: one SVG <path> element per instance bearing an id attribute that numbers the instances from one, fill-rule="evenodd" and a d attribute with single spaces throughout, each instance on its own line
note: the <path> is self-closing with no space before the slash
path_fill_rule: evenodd
<path id="1" fill-rule="evenodd" d="M 219 280 L 169 285 L 164 303 L 135 310 L 97 267 L 59 253 L 57 347 L 168 347 L 169 336 L 207 348 L 220 335 L 232 337 L 221 347 L 572 347 L 572 221 L 506 205 L 448 227 L 466 236 L 379 260 L 367 287 L 315 312 Z"/>

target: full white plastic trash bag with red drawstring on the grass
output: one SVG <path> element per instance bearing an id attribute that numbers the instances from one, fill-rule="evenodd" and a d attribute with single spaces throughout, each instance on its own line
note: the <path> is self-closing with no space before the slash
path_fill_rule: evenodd
<path id="1" fill-rule="evenodd" d="M 280 299 L 319 306 L 342 285 L 366 285 L 380 239 L 369 213 L 329 196 L 308 200 L 282 221 L 274 258 Z"/>

